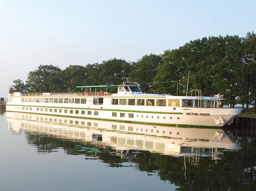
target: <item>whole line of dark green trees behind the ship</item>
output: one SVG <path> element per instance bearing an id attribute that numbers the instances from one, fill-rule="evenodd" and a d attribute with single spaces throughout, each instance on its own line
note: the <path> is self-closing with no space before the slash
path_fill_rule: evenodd
<path id="1" fill-rule="evenodd" d="M 10 92 L 79 91 L 76 86 L 122 82 L 138 82 L 147 93 L 186 95 L 188 88 L 191 95 L 192 89 L 200 89 L 204 96 L 225 95 L 224 105 L 255 106 L 256 35 L 204 37 L 137 62 L 114 58 L 64 70 L 40 65 L 28 73 L 25 83 L 14 80 Z"/>

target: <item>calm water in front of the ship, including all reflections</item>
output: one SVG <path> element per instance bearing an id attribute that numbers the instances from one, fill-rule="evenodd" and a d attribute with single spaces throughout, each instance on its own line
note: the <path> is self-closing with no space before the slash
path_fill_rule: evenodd
<path id="1" fill-rule="evenodd" d="M 254 190 L 256 131 L 0 115 L 0 190 Z"/>

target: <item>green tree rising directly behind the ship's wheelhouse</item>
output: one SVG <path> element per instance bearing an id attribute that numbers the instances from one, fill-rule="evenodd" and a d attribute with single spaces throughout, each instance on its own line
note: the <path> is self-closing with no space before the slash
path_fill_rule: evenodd
<path id="1" fill-rule="evenodd" d="M 145 55 L 137 63 L 133 63 L 134 70 L 129 73 L 130 80 L 140 83 L 142 92 L 153 93 L 153 79 L 157 75 L 157 67 L 162 64 L 159 55 Z"/>

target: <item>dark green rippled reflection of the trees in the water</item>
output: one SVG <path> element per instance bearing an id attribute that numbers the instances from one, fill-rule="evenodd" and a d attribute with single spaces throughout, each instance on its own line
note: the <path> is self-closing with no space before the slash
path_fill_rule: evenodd
<path id="1" fill-rule="evenodd" d="M 192 163 L 186 157 L 174 157 L 149 151 L 116 151 L 110 146 L 99 147 L 98 142 L 40 135 L 26 132 L 29 144 L 35 145 L 38 152 L 56 151 L 63 148 L 68 155 L 85 155 L 98 159 L 109 167 L 122 167 L 133 163 L 139 171 L 154 173 L 163 181 L 169 181 L 180 191 L 227 191 L 253 190 L 256 185 L 256 138 L 239 137 L 239 151 L 224 151 L 221 160 L 200 157 Z M 127 164 L 126 164 L 127 165 Z"/>

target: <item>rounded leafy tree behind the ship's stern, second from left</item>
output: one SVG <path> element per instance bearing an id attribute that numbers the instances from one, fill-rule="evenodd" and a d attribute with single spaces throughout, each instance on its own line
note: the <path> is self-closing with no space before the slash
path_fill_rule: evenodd
<path id="1" fill-rule="evenodd" d="M 27 76 L 29 92 L 60 92 L 63 89 L 61 69 L 58 66 L 40 65 Z"/>

